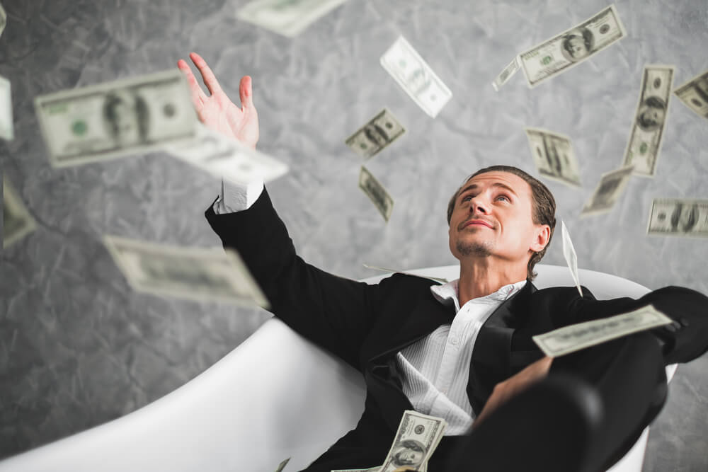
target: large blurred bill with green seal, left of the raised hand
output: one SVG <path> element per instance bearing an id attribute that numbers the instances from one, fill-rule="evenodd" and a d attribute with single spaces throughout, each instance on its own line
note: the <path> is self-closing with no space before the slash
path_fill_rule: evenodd
<path id="1" fill-rule="evenodd" d="M 198 121 L 178 69 L 38 96 L 35 110 L 55 167 L 192 139 Z"/>

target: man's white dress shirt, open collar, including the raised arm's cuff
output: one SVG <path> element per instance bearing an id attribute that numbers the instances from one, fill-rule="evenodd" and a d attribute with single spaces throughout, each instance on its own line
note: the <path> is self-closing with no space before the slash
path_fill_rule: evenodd
<path id="1" fill-rule="evenodd" d="M 235 185 L 222 180 L 222 189 L 214 202 L 214 212 L 224 214 L 248 209 L 263 192 L 263 182 Z M 469 432 L 474 412 L 467 397 L 469 364 L 479 330 L 501 303 L 526 284 L 521 280 L 497 292 L 467 301 L 459 306 L 457 282 L 433 285 L 435 299 L 455 305 L 452 324 L 442 325 L 425 338 L 396 354 L 403 392 L 416 411 L 445 418 L 446 436 Z"/>

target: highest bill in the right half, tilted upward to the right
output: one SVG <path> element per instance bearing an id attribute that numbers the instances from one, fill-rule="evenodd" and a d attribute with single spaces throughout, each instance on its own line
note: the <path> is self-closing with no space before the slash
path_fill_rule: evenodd
<path id="1" fill-rule="evenodd" d="M 535 87 L 593 57 L 627 32 L 614 5 L 520 54 L 529 87 Z"/>

